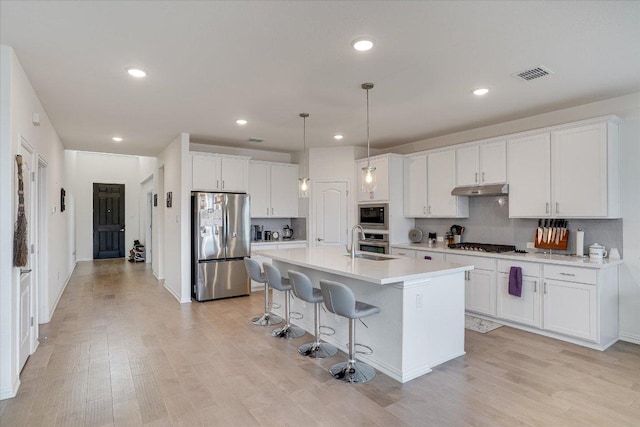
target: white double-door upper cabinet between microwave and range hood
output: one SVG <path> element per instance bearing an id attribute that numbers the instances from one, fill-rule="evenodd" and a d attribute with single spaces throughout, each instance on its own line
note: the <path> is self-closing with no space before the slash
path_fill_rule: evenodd
<path id="1" fill-rule="evenodd" d="M 469 216 L 469 199 L 451 195 L 455 187 L 455 155 L 455 150 L 442 150 L 405 158 L 405 217 Z"/>

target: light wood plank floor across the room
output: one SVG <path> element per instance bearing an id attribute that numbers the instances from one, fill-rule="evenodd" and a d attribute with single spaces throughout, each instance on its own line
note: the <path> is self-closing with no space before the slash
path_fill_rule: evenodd
<path id="1" fill-rule="evenodd" d="M 640 346 L 605 352 L 508 327 L 400 384 L 333 380 L 250 324 L 263 294 L 178 304 L 144 264 L 81 262 L 0 402 L 5 426 L 640 426 Z"/>

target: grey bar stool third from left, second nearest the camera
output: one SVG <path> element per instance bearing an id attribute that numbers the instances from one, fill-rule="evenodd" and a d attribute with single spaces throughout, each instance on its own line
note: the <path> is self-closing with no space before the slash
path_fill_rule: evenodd
<path id="1" fill-rule="evenodd" d="M 293 287 L 293 294 L 301 300 L 313 304 L 313 330 L 316 339 L 314 342 L 302 344 L 298 347 L 298 353 L 314 359 L 324 359 L 325 357 L 335 356 L 338 352 L 335 346 L 326 342 L 320 342 L 320 328 L 329 329 L 335 334 L 333 328 L 320 326 L 320 305 L 323 301 L 322 291 L 313 287 L 311 280 L 306 274 L 294 270 L 289 270 L 288 274 L 289 281 Z"/>

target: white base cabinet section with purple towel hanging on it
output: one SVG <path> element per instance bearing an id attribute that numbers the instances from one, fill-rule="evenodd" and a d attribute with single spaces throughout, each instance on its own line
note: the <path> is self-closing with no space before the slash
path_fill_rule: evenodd
<path id="1" fill-rule="evenodd" d="M 522 294 L 509 294 L 511 267 L 522 269 Z M 498 261 L 498 305 L 496 317 L 539 328 L 542 325 L 542 281 L 540 266 L 530 262 Z"/>

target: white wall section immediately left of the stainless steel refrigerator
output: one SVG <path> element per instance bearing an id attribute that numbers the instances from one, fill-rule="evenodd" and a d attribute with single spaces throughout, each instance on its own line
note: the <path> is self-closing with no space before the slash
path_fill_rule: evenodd
<path id="1" fill-rule="evenodd" d="M 159 262 L 164 270 L 164 286 L 180 302 L 191 301 L 190 272 L 190 190 L 189 134 L 178 135 L 158 156 L 158 169 L 162 168 L 164 193 L 158 195 L 158 208 L 164 219 L 162 249 Z M 160 173 L 158 174 L 161 175 Z M 167 193 L 172 193 L 173 205 L 166 206 Z M 162 201 L 162 205 L 161 205 Z M 155 239 L 155 228 L 154 228 Z M 164 255 L 163 255 L 164 254 Z"/>

